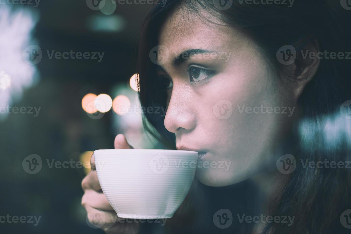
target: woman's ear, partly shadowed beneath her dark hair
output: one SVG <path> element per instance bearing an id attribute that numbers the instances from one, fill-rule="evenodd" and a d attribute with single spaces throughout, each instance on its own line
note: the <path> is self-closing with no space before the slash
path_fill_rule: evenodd
<path id="1" fill-rule="evenodd" d="M 294 100 L 298 100 L 307 83 L 316 75 L 320 64 L 319 44 L 317 40 L 311 41 L 302 49 L 296 49 L 296 59 L 291 65 L 287 65 L 284 70 L 293 78 L 289 82 L 293 91 Z M 283 79 L 286 77 L 282 77 Z"/>

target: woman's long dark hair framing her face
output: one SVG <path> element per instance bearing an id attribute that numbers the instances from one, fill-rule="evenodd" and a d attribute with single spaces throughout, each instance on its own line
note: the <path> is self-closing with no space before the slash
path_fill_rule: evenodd
<path id="1" fill-rule="evenodd" d="M 216 1 L 216 0 L 215 0 Z M 324 0 L 295 0 L 291 7 L 285 5 L 240 4 L 233 0 L 229 9 L 218 10 L 213 0 L 167 0 L 154 7 L 145 19 L 139 46 L 139 98 L 143 107 L 166 108 L 166 92 L 153 79 L 155 64 L 149 53 L 158 45 L 160 27 L 166 18 L 181 5 L 198 13 L 205 9 L 224 24 L 241 29 L 260 46 L 270 64 L 284 74 L 287 65 L 276 58 L 278 49 L 292 45 L 300 50 L 308 40 L 317 40 L 321 52 L 348 52 L 350 38 L 350 11 L 336 5 L 335 9 Z M 337 1 L 339 3 L 339 1 Z M 339 8 L 339 9 L 338 9 Z M 344 14 L 342 14 L 344 13 Z M 206 19 L 204 19 L 206 20 Z M 287 75 L 291 82 L 293 78 Z M 297 162 L 351 161 L 351 120 L 340 116 L 339 108 L 351 99 L 350 60 L 321 59 L 316 75 L 307 84 L 298 102 L 302 107 L 300 127 L 296 131 L 299 149 Z M 337 113 L 337 114 L 335 114 Z M 175 149 L 175 136 L 164 127 L 161 114 L 143 116 L 146 130 L 163 143 Z M 325 129 L 334 126 L 334 137 Z M 339 127 L 336 127 L 336 126 Z M 342 126 L 342 127 L 340 127 Z M 346 128 L 343 128 L 343 126 Z M 332 140 L 330 140 L 332 139 Z M 351 173 L 347 168 L 311 168 L 297 165 L 289 176 L 278 200 L 271 207 L 272 216 L 295 216 L 291 226 L 287 223 L 268 223 L 264 233 L 346 233 L 340 224 L 340 215 L 351 208 Z"/>

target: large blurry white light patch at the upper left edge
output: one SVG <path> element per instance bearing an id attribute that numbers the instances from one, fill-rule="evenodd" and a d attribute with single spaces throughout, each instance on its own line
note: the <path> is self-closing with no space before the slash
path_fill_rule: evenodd
<path id="1" fill-rule="evenodd" d="M 24 48 L 36 43 L 31 34 L 38 19 L 33 10 L 14 10 L 6 4 L 0 7 L 0 107 L 20 99 L 24 88 L 32 86 L 39 76 L 37 67 L 22 58 Z"/>

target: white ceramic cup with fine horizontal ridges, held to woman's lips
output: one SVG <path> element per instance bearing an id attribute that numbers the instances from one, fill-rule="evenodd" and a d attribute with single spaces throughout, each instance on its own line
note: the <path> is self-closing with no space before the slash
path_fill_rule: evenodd
<path id="1" fill-rule="evenodd" d="M 117 215 L 171 218 L 194 179 L 198 152 L 169 149 L 94 151 L 102 191 Z"/>

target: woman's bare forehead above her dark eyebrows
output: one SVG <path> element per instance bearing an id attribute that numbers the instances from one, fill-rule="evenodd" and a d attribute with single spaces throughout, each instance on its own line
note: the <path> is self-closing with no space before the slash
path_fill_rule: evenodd
<path id="1" fill-rule="evenodd" d="M 159 45 L 165 45 L 170 58 L 189 49 L 228 52 L 245 43 L 239 30 L 224 25 L 211 13 L 199 9 L 199 14 L 184 6 L 174 11 L 161 27 Z M 166 65 L 166 64 L 165 64 Z"/>

